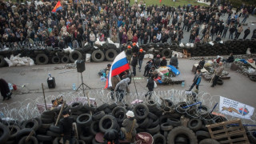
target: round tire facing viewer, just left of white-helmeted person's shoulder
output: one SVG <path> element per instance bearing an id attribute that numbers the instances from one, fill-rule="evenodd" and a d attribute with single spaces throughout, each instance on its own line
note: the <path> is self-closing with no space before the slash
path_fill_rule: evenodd
<path id="1" fill-rule="evenodd" d="M 110 122 L 111 122 L 111 125 L 109 127 L 106 128 L 106 120 L 109 119 Z M 102 133 L 105 133 L 106 130 L 109 130 L 109 129 L 116 129 L 117 128 L 117 125 L 118 125 L 118 122 L 116 120 L 116 118 L 114 118 L 114 116 L 112 115 L 105 115 L 100 121 L 99 121 L 99 130 L 102 131 Z"/>

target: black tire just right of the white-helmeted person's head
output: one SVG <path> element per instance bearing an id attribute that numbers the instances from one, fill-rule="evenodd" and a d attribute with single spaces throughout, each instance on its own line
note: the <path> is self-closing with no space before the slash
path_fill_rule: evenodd
<path id="1" fill-rule="evenodd" d="M 139 103 L 136 106 L 134 106 L 133 111 L 134 111 L 135 118 L 138 118 L 138 119 L 144 119 L 149 114 L 149 108 L 142 103 Z"/>

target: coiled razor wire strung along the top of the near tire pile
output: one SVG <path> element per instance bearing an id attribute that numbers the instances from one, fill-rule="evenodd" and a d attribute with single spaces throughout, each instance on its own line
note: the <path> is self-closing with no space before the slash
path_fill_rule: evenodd
<path id="1" fill-rule="evenodd" d="M 111 92 L 110 90 L 86 90 L 86 98 L 95 98 L 95 101 L 97 103 L 97 106 L 101 106 L 103 103 L 111 103 L 114 102 L 118 104 L 119 106 L 125 106 L 126 104 L 130 105 L 131 108 L 134 107 L 134 104 L 131 104 L 132 102 L 136 103 L 135 101 L 141 100 L 142 102 L 149 102 L 148 98 L 145 97 L 145 94 L 147 93 L 146 90 L 139 91 L 138 94 L 134 92 L 130 92 L 127 94 L 124 94 L 124 98 L 122 99 L 122 102 L 118 102 L 118 98 L 114 97 L 114 100 L 111 99 Z M 77 92 L 74 91 L 68 91 L 68 92 L 61 92 L 57 95 L 48 95 L 46 96 L 46 103 L 51 104 L 51 101 L 62 97 L 68 105 L 70 105 L 72 102 L 78 102 L 78 98 L 84 98 L 83 91 L 78 90 Z M 206 92 L 200 92 L 196 96 L 196 101 L 192 101 L 185 93 L 185 90 L 155 90 L 152 94 L 152 97 L 150 101 L 153 101 L 157 104 L 158 108 L 162 110 L 162 114 L 168 114 L 168 111 L 165 110 L 165 108 L 170 108 L 175 110 L 176 112 L 180 114 L 186 114 L 190 116 L 190 118 L 201 118 L 205 122 L 219 122 L 222 120 L 232 120 L 236 119 L 234 116 L 226 115 L 225 118 L 223 117 L 212 117 L 210 112 L 213 110 L 216 103 L 219 102 L 219 95 L 211 95 Z M 162 99 L 168 99 L 171 102 L 173 102 L 173 106 L 166 106 L 165 102 L 162 101 Z M 180 102 L 183 102 L 183 104 L 179 104 Z M 194 105 L 190 106 L 185 110 L 182 110 L 183 106 L 189 106 L 193 103 L 201 102 L 202 105 Z M 44 105 L 44 99 L 43 97 L 38 97 L 35 99 L 27 98 L 23 102 L 12 102 L 10 104 L 1 102 L 0 103 L 0 113 L 2 113 L 5 118 L 8 118 L 11 121 L 24 121 L 27 119 L 35 118 L 40 115 L 40 112 L 38 110 L 37 104 Z M 202 106 L 202 109 L 200 109 L 200 106 Z M 219 112 L 219 106 L 216 106 L 214 108 L 214 112 Z M 244 119 L 241 118 L 242 123 L 249 124 L 249 125 L 256 125 L 256 114 L 251 116 L 251 119 Z M 248 126 L 250 127 L 250 126 Z"/>

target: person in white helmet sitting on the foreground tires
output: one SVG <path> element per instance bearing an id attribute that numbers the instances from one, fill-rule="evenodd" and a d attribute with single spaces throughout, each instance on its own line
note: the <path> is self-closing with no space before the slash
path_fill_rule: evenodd
<path id="1" fill-rule="evenodd" d="M 126 140 L 134 142 L 135 135 L 137 134 L 136 129 L 138 128 L 137 120 L 134 118 L 134 112 L 128 111 L 126 113 L 127 118 L 122 122 L 121 131 L 126 134 Z M 130 137 L 130 138 L 129 138 Z"/>

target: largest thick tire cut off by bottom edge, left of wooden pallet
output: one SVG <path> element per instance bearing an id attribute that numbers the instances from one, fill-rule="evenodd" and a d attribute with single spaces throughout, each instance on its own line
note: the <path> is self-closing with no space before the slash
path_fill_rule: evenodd
<path id="1" fill-rule="evenodd" d="M 171 130 L 167 136 L 167 143 L 168 144 L 175 143 L 174 140 L 178 134 L 185 134 L 190 139 L 190 144 L 198 143 L 198 139 L 195 136 L 194 132 L 185 126 L 178 126 L 178 127 L 175 127 L 173 130 Z"/>

